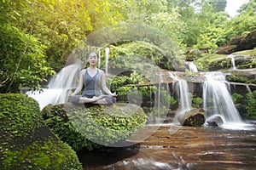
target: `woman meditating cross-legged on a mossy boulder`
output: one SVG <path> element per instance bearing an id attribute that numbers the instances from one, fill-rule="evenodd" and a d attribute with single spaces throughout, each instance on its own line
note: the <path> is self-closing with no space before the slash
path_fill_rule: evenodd
<path id="1" fill-rule="evenodd" d="M 104 71 L 96 68 L 97 54 L 92 52 L 88 56 L 90 66 L 80 71 L 79 86 L 71 94 L 73 103 L 94 103 L 94 104 L 113 104 L 116 93 L 111 93 L 106 86 Z M 82 95 L 79 92 L 84 87 Z M 102 94 L 102 91 L 108 95 Z"/>

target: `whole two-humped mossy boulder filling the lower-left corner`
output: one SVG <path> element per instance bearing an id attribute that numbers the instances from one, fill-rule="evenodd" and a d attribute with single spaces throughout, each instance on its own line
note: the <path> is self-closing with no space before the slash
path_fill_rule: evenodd
<path id="1" fill-rule="evenodd" d="M 51 133 L 38 103 L 25 94 L 0 94 L 1 169 L 82 169 L 72 148 Z"/>

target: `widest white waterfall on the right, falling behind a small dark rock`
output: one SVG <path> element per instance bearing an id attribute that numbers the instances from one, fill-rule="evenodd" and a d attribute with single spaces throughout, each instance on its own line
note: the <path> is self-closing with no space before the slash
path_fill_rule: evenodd
<path id="1" fill-rule="evenodd" d="M 229 92 L 229 83 L 224 74 L 213 72 L 206 74 L 207 81 L 203 87 L 203 103 L 207 117 L 220 115 L 224 122 L 241 122 L 241 117 Z"/>

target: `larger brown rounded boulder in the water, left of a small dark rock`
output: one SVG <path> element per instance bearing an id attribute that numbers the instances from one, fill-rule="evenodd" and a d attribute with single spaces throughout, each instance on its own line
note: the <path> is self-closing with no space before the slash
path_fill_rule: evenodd
<path id="1" fill-rule="evenodd" d="M 193 109 L 178 113 L 177 121 L 183 126 L 200 127 L 206 122 L 205 111 L 203 109 Z"/>

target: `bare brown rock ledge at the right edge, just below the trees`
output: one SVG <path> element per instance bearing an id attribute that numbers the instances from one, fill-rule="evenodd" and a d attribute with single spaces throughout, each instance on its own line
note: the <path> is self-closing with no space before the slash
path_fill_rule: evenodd
<path id="1" fill-rule="evenodd" d="M 231 39 L 231 41 L 218 48 L 217 54 L 232 54 L 236 51 L 253 49 L 256 47 L 256 30 L 251 31 L 245 36 L 238 36 Z"/>

